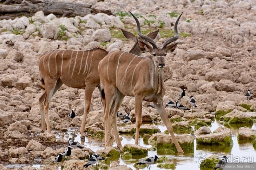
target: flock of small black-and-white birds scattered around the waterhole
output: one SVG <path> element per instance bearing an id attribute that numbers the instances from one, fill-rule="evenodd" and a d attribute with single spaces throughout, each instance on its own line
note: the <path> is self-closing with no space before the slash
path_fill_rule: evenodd
<path id="1" fill-rule="evenodd" d="M 186 93 L 185 93 L 186 89 L 182 89 L 182 92 L 180 93 L 179 95 L 179 99 L 178 100 L 181 100 L 182 97 L 186 96 Z M 248 89 L 247 93 L 245 94 L 245 96 L 247 97 L 248 100 L 250 100 L 251 98 L 251 93 L 250 93 L 250 89 Z M 189 100 L 189 103 L 191 104 L 191 108 L 193 109 L 196 108 L 196 101 L 194 99 L 194 96 L 190 96 L 190 100 Z M 150 105 L 147 105 L 148 107 L 153 107 L 155 108 L 154 104 L 150 104 Z M 183 106 L 182 104 L 179 103 L 179 101 L 171 101 L 171 100 L 168 100 L 167 103 L 166 103 L 166 107 L 174 107 L 174 108 L 178 108 L 178 109 L 181 109 L 181 110 L 190 110 L 188 109 L 187 107 Z M 67 117 L 69 118 L 75 118 L 75 109 L 72 109 L 72 112 L 69 113 L 69 115 L 67 115 Z M 131 120 L 131 117 L 130 117 L 130 114 L 127 113 L 126 115 L 122 114 L 121 112 L 117 112 L 116 114 L 116 117 L 118 118 L 118 122 L 120 122 L 120 118 L 123 118 L 123 122 L 124 123 L 128 123 L 130 122 Z M 56 158 L 52 161 L 52 163 L 59 163 L 62 161 L 62 158 L 64 156 L 70 156 L 71 155 L 71 149 L 73 148 L 80 148 L 82 149 L 83 147 L 80 146 L 79 143 L 76 143 L 74 141 L 72 141 L 71 138 L 69 138 L 69 146 L 68 148 L 63 152 L 63 153 L 60 153 L 59 155 L 56 156 Z M 157 155 L 155 155 L 154 157 L 149 157 L 147 158 L 145 161 L 142 161 L 142 162 L 138 162 L 136 163 L 137 165 L 141 165 L 141 164 L 146 164 L 147 165 L 147 168 L 149 166 L 148 169 L 150 169 L 150 166 L 152 164 L 154 164 L 156 162 L 156 160 L 159 159 L 157 157 Z M 89 167 L 90 165 L 93 165 L 96 164 L 96 169 L 97 169 L 97 162 L 99 162 L 100 160 L 105 160 L 104 157 L 100 156 L 100 155 L 97 155 L 97 154 L 90 154 L 89 155 L 89 161 L 83 166 L 83 167 Z M 215 165 L 215 167 L 213 168 L 214 170 L 220 168 L 221 169 L 221 166 L 226 164 L 227 162 L 227 157 L 224 156 L 222 159 L 220 159 L 220 161 Z M 99 168 L 99 165 L 98 165 L 98 168 Z"/>

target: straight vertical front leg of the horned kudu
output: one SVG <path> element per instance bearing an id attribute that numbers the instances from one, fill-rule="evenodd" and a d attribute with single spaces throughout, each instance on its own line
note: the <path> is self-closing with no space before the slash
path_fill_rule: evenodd
<path id="1" fill-rule="evenodd" d="M 139 132 L 141 128 L 141 111 L 142 111 L 142 98 L 135 97 L 135 115 L 136 115 L 135 145 L 137 145 L 139 141 Z"/>

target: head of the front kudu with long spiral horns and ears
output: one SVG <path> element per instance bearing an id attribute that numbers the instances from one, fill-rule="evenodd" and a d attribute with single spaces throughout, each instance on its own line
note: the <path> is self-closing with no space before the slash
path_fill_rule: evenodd
<path id="1" fill-rule="evenodd" d="M 177 43 L 174 43 L 174 44 L 170 44 L 171 42 L 174 42 L 179 38 L 179 33 L 178 33 L 178 28 L 177 27 L 178 27 L 179 19 L 181 18 L 181 15 L 182 15 L 183 12 L 181 13 L 181 15 L 178 17 L 177 21 L 175 22 L 175 25 L 174 25 L 175 36 L 167 39 L 164 42 L 164 44 L 162 45 L 161 49 L 157 47 L 157 45 L 156 45 L 156 43 L 154 42 L 153 39 L 151 39 L 150 37 L 148 37 L 146 35 L 143 35 L 141 33 L 140 22 L 130 11 L 129 11 L 129 13 L 134 17 L 134 19 L 137 23 L 137 30 L 138 30 L 138 34 L 141 37 L 141 39 L 149 42 L 153 46 L 153 48 L 152 48 L 148 44 L 146 44 L 143 41 L 141 41 L 140 39 L 138 39 L 138 43 L 139 43 L 139 46 L 141 48 L 141 51 L 149 52 L 151 54 L 152 58 L 153 58 L 154 65 L 158 69 L 162 70 L 165 67 L 165 64 L 164 64 L 165 61 L 164 60 L 165 60 L 166 53 L 169 52 L 169 51 L 173 52 L 175 50 L 176 46 L 179 43 L 179 42 L 177 42 Z"/>

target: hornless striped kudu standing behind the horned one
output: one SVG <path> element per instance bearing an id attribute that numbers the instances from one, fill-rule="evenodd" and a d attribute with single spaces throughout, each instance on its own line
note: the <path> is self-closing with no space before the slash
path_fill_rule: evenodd
<path id="1" fill-rule="evenodd" d="M 147 36 L 155 39 L 158 31 L 159 29 L 149 33 Z M 138 39 L 141 38 L 125 30 L 122 30 L 122 32 L 127 39 L 132 39 L 135 42 L 129 52 L 135 55 L 141 55 L 142 51 L 138 45 Z M 56 91 L 62 84 L 65 84 L 72 88 L 86 87 L 84 94 L 84 113 L 80 128 L 81 137 L 84 137 L 84 127 L 91 104 L 92 93 L 95 87 L 98 87 L 100 90 L 98 64 L 107 54 L 108 52 L 106 50 L 96 47 L 87 51 L 52 50 L 39 57 L 39 72 L 42 77 L 41 82 L 45 88 L 45 92 L 39 98 L 41 128 L 43 132 L 46 132 L 47 126 L 47 132 L 51 133 L 48 117 L 49 103 Z M 111 124 L 108 126 L 112 131 Z M 114 137 L 111 133 L 110 136 Z"/>

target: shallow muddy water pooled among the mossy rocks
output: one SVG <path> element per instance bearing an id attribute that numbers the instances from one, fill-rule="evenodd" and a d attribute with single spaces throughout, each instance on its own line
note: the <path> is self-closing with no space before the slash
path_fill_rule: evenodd
<path id="1" fill-rule="evenodd" d="M 165 126 L 160 126 L 160 125 L 156 125 L 156 126 L 161 130 L 161 132 L 166 130 Z M 224 125 L 220 124 L 218 120 L 215 120 L 212 123 L 212 126 L 210 127 L 210 129 L 213 132 L 220 126 L 224 126 Z M 231 127 L 225 126 L 231 129 L 232 139 L 233 139 L 232 146 L 216 146 L 216 145 L 197 146 L 196 140 L 194 140 L 194 151 L 190 151 L 190 152 L 185 151 L 183 154 L 166 155 L 166 156 L 170 158 L 175 164 L 176 166 L 175 170 L 184 170 L 186 168 L 190 168 L 193 170 L 200 169 L 199 162 L 203 161 L 204 158 L 213 154 L 217 154 L 221 157 L 226 155 L 228 158 L 230 158 L 228 161 L 231 161 L 231 159 L 234 160 L 234 159 L 243 158 L 245 162 L 252 162 L 252 161 L 256 162 L 256 154 L 255 154 L 256 152 L 252 146 L 252 142 L 249 142 L 249 143 L 238 142 L 237 140 L 238 129 L 239 127 L 243 127 L 243 126 L 245 125 L 231 126 Z M 122 126 L 120 126 L 120 128 L 122 128 Z M 254 123 L 251 128 L 256 129 L 256 123 Z M 121 134 L 120 136 L 123 138 L 123 140 L 121 141 L 122 145 L 126 143 L 134 144 L 135 142 L 131 135 Z M 81 143 L 79 131 L 74 130 L 72 128 L 69 128 L 69 131 L 66 133 L 56 135 L 57 139 L 60 137 L 64 137 L 66 140 L 68 140 L 69 137 L 75 137 L 75 141 L 78 141 L 79 143 Z M 113 146 L 116 146 L 115 141 L 112 141 L 112 142 L 113 142 Z M 104 139 L 99 139 L 95 137 L 86 137 L 84 143 L 82 142 L 82 144 L 84 144 L 85 147 L 89 147 L 94 152 L 96 152 L 96 150 L 98 149 L 104 149 L 103 143 L 104 143 Z M 139 139 L 139 145 L 145 146 L 147 148 L 151 147 L 151 145 L 145 144 L 142 138 Z M 154 156 L 154 155 L 162 156 L 165 154 L 164 154 L 164 151 L 148 151 L 147 157 Z M 119 164 L 126 164 L 128 167 L 131 167 L 132 169 L 136 169 L 133 165 L 136 162 L 143 161 L 144 158 L 145 156 L 138 155 L 138 156 L 133 156 L 133 158 L 130 160 L 123 160 L 119 157 L 116 157 L 116 158 L 111 158 L 111 161 L 117 161 L 119 162 Z M 150 169 L 151 170 L 160 169 L 156 166 L 157 164 L 154 164 L 151 166 Z M 34 165 L 34 167 L 39 168 L 40 165 Z M 147 168 L 144 168 L 144 169 L 146 170 Z"/>

